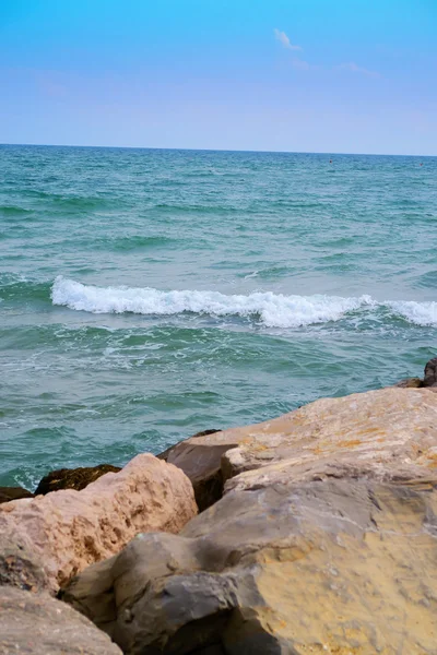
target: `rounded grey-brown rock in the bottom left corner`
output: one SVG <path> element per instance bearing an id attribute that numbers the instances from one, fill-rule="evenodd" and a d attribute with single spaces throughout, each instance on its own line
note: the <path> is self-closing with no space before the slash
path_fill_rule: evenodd
<path id="1" fill-rule="evenodd" d="M 48 594 L 0 587 L 0 655 L 121 655 L 91 621 Z"/>

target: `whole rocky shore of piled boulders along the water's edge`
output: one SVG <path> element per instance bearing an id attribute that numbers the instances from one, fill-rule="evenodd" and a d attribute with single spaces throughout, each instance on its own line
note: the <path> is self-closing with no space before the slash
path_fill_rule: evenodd
<path id="1" fill-rule="evenodd" d="M 436 391 L 1 489 L 0 655 L 436 655 Z"/>

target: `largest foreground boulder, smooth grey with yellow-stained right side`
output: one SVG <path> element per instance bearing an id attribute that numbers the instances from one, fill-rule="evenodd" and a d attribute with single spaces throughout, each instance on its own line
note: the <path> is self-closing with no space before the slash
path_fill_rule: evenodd
<path id="1" fill-rule="evenodd" d="M 232 491 L 144 534 L 64 600 L 126 655 L 435 655 L 437 480 Z"/>

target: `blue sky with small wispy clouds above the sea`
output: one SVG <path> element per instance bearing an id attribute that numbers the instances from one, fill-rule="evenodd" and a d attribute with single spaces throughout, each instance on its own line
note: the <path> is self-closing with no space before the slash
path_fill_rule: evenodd
<path id="1" fill-rule="evenodd" d="M 437 0 L 0 0 L 0 143 L 437 155 Z"/>

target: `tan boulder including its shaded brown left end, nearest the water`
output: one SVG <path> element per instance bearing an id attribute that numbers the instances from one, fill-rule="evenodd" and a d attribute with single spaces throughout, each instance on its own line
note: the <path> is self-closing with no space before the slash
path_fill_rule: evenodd
<path id="1" fill-rule="evenodd" d="M 343 477 L 345 467 L 354 475 L 357 461 L 379 469 L 381 478 L 414 477 L 408 466 L 420 466 L 417 475 L 426 476 L 424 468 L 437 466 L 436 429 L 437 395 L 425 389 L 388 388 L 322 398 L 258 425 L 187 439 L 169 450 L 167 462 L 191 479 L 203 510 L 222 496 L 224 483 L 233 488 L 231 478 L 262 469 L 248 483 L 256 486 L 272 465 L 279 481 L 300 476 L 307 465 L 312 471 L 314 462 L 320 475 L 331 477 Z"/>

